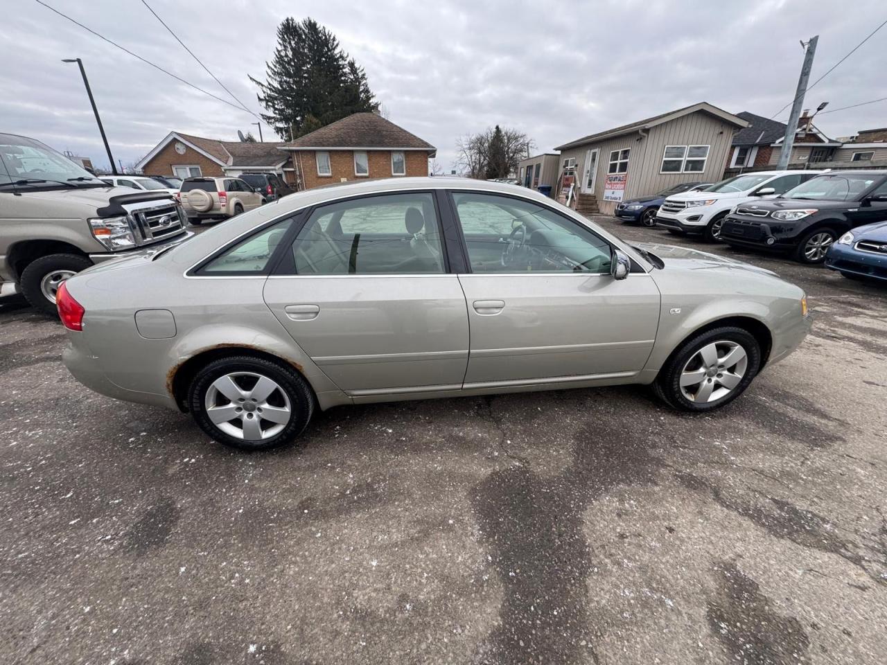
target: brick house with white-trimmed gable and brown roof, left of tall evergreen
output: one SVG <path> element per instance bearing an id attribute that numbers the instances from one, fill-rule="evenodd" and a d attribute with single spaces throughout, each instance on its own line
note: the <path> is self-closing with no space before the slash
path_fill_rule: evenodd
<path id="1" fill-rule="evenodd" d="M 145 176 L 239 176 L 249 171 L 287 171 L 287 153 L 279 142 L 220 141 L 171 131 L 136 168 Z M 292 170 L 292 168 L 290 168 Z"/>

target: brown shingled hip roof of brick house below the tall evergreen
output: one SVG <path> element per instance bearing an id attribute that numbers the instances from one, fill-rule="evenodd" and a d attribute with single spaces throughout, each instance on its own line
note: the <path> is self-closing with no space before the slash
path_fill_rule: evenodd
<path id="1" fill-rule="evenodd" d="M 284 150 L 300 148 L 375 148 L 379 150 L 427 150 L 436 152 L 434 145 L 423 141 L 394 122 L 376 113 L 354 113 L 340 121 L 326 125 L 283 145 Z"/>

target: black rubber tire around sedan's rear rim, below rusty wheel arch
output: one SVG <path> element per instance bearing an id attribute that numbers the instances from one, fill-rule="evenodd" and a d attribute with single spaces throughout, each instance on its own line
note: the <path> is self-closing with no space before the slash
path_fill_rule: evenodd
<path id="1" fill-rule="evenodd" d="M 279 389 L 286 395 L 291 410 L 289 421 L 282 430 L 267 439 L 248 441 L 224 432 L 213 423 L 208 416 L 206 407 L 208 390 L 216 379 L 233 372 L 258 374 L 277 383 Z M 314 413 L 314 403 L 314 393 L 301 374 L 287 367 L 286 364 L 252 356 L 232 356 L 215 360 L 197 372 L 188 388 L 188 405 L 192 417 L 200 429 L 215 441 L 239 450 L 271 450 L 293 442 L 308 426 L 311 415 Z M 236 406 L 236 404 L 233 405 Z M 241 411 L 243 410 L 241 409 Z M 255 409 L 254 412 L 245 413 L 245 415 L 252 418 L 255 413 L 256 422 L 258 422 L 263 420 L 258 411 L 260 410 Z M 273 426 L 273 424 L 269 424 Z"/>

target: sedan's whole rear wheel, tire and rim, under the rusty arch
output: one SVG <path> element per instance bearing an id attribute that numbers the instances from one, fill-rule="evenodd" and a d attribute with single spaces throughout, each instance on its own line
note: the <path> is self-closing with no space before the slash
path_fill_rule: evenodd
<path id="1" fill-rule="evenodd" d="M 271 450 L 302 434 L 314 395 L 298 372 L 264 358 L 233 356 L 194 377 L 188 404 L 200 429 L 240 450 Z"/>

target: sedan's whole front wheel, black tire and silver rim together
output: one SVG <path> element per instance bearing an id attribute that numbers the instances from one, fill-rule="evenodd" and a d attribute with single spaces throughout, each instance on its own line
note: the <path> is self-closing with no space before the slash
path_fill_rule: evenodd
<path id="1" fill-rule="evenodd" d="M 742 395 L 760 368 L 761 350 L 750 332 L 716 328 L 684 342 L 653 385 L 679 411 L 713 411 Z"/>

